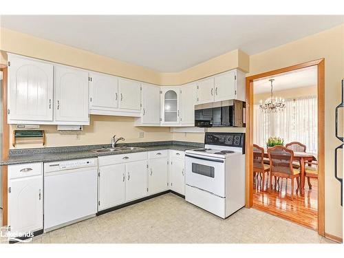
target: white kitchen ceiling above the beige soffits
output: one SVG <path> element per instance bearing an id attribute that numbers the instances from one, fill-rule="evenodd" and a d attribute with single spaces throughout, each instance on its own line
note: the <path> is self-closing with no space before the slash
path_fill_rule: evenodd
<path id="1" fill-rule="evenodd" d="M 344 23 L 344 16 L 3 15 L 4 28 L 159 72 L 180 72 L 231 50 L 256 54 Z"/>

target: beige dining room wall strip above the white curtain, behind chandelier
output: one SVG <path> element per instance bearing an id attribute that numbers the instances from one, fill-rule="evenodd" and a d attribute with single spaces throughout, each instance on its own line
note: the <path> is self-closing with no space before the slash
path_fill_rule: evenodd
<path id="1" fill-rule="evenodd" d="M 255 87 L 255 83 L 253 83 L 253 87 Z M 300 98 L 305 96 L 316 96 L 317 89 L 316 86 L 310 87 L 302 87 L 302 88 L 294 88 L 294 89 L 285 89 L 282 91 L 275 91 L 274 96 L 281 97 L 284 99 L 287 98 Z M 266 100 L 266 98 L 270 97 L 270 92 L 264 92 L 261 94 L 254 94 L 253 95 L 253 103 L 258 104 L 260 100 Z"/>

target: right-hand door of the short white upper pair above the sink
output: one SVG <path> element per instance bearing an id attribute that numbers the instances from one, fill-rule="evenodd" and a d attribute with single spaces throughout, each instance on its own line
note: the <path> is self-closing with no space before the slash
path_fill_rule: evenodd
<path id="1" fill-rule="evenodd" d="M 118 79 L 120 109 L 140 111 L 141 83 L 136 80 Z"/>

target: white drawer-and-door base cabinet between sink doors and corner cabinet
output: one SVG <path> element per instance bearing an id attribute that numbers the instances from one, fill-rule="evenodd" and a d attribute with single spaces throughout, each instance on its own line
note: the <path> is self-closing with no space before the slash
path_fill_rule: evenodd
<path id="1" fill-rule="evenodd" d="M 149 194 L 169 189 L 169 151 L 149 152 Z"/>

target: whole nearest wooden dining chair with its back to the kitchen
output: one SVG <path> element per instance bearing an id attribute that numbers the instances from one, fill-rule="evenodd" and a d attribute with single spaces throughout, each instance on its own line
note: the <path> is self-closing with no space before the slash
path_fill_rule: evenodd
<path id="1" fill-rule="evenodd" d="M 270 160 L 270 191 L 272 189 L 272 176 L 289 178 L 292 180 L 292 200 L 294 199 L 294 179 L 297 179 L 297 191 L 300 189 L 300 169 L 294 169 L 292 160 L 294 151 L 283 146 L 268 149 Z M 276 184 L 277 182 L 275 182 Z"/>

